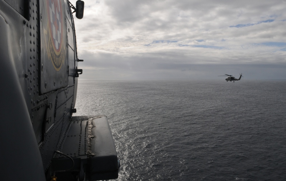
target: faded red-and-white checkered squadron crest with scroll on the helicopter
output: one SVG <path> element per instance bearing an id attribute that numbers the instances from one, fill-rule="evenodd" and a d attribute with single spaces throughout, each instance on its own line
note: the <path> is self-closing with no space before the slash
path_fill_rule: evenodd
<path id="1" fill-rule="evenodd" d="M 65 60 L 66 48 L 64 18 L 62 5 L 59 0 L 46 1 L 47 3 L 47 30 L 45 33 L 45 44 L 47 48 L 47 55 L 51 60 L 56 71 L 61 70 L 61 66 Z"/>

